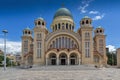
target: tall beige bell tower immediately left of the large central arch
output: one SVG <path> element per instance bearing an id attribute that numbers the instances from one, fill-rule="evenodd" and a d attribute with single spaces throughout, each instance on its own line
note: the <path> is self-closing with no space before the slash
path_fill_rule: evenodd
<path id="1" fill-rule="evenodd" d="M 46 29 L 46 22 L 43 18 L 35 20 L 34 27 L 34 65 L 44 65 L 45 61 L 45 37 L 48 33 Z"/>

